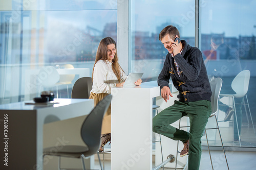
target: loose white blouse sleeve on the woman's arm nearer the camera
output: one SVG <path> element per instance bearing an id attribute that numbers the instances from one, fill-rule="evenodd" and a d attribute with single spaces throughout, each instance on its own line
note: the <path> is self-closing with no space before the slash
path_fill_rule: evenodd
<path id="1" fill-rule="evenodd" d="M 95 83 L 102 93 L 111 93 L 111 87 L 116 87 L 115 83 L 105 83 L 108 74 L 108 66 L 103 62 L 98 62 L 94 66 L 93 83 Z"/>

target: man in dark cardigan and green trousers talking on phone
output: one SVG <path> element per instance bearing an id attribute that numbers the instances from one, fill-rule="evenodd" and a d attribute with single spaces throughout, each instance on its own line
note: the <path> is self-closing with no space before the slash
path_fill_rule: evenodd
<path id="1" fill-rule="evenodd" d="M 202 53 L 191 47 L 180 37 L 174 26 L 165 27 L 159 40 L 168 50 L 163 69 L 158 77 L 162 98 L 167 102 L 173 96 L 169 79 L 179 91 L 179 101 L 164 109 L 153 118 L 153 131 L 174 140 L 180 140 L 184 148 L 180 156 L 188 156 L 188 169 L 199 169 L 201 159 L 201 137 L 211 114 L 211 90 Z M 188 115 L 189 133 L 170 126 L 181 117 Z"/>

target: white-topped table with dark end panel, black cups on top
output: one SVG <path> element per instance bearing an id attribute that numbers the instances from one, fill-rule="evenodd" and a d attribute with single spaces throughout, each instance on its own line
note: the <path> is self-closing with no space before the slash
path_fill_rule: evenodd
<path id="1" fill-rule="evenodd" d="M 0 169 L 43 169 L 43 164 L 52 161 L 42 159 L 44 124 L 84 116 L 94 108 L 94 100 L 89 99 L 54 99 L 54 101 L 59 104 L 39 106 L 18 102 L 0 105 L 2 158 Z M 4 136 L 4 117 L 8 117 L 7 136 Z M 55 140 L 57 141 L 54 145 L 56 149 L 60 147 L 60 144 L 71 144 L 71 140 L 65 136 L 60 136 Z M 8 144 L 6 145 L 4 141 Z M 8 149 L 4 151 L 4 148 Z M 8 166 L 4 165 L 3 161 L 6 153 L 8 154 Z"/>

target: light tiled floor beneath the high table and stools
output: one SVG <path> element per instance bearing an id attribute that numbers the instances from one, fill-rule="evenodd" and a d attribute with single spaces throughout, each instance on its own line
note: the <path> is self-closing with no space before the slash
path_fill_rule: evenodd
<path id="1" fill-rule="evenodd" d="M 256 161 L 255 161 L 256 160 L 256 152 L 227 151 L 226 156 L 227 156 L 228 165 L 229 165 L 230 170 L 255 169 L 255 167 L 256 167 Z M 108 158 L 109 158 L 109 156 L 108 156 Z M 212 158 L 212 163 L 214 165 L 214 169 L 218 169 L 218 170 L 228 169 L 223 152 L 211 151 L 211 158 Z M 101 161 L 101 163 L 103 164 L 102 161 Z M 99 168 L 97 159 L 95 160 L 95 164 L 96 164 L 95 168 Z M 153 162 L 153 167 L 154 166 L 155 165 Z M 110 160 L 105 161 L 104 169 L 105 170 L 111 169 Z M 165 168 L 165 169 L 172 169 L 172 168 Z M 208 151 L 202 152 L 200 169 L 203 169 L 203 170 L 212 169 Z M 120 169 L 112 169 L 112 170 L 120 170 Z M 136 169 L 131 169 L 131 170 L 136 170 Z M 138 170 L 144 170 L 144 169 L 138 169 Z"/>

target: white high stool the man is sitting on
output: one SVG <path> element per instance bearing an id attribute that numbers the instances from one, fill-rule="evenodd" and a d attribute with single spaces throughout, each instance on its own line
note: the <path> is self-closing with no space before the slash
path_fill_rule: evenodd
<path id="1" fill-rule="evenodd" d="M 211 115 L 210 115 L 210 117 L 215 116 L 217 127 L 216 128 L 205 128 L 205 135 L 206 135 L 208 151 L 209 151 L 209 155 L 210 155 L 210 148 L 209 148 L 209 143 L 208 143 L 206 130 L 218 129 L 219 134 L 220 134 L 223 153 L 225 155 L 225 159 L 226 159 L 226 163 L 227 163 L 226 153 L 225 153 L 225 150 L 224 150 L 224 146 L 223 146 L 223 142 L 222 142 L 222 138 L 221 138 L 221 133 L 220 133 L 220 129 L 219 129 L 219 124 L 218 124 L 217 117 L 216 117 L 216 112 L 218 111 L 218 106 L 219 106 L 218 101 L 219 101 L 219 94 L 220 94 L 220 91 L 221 91 L 221 86 L 222 86 L 222 79 L 221 78 L 216 78 L 216 79 L 214 79 L 210 82 L 210 88 L 211 88 L 211 92 L 212 92 L 212 94 L 211 94 Z M 189 127 L 189 126 L 180 126 L 180 123 L 179 123 L 179 129 L 180 128 L 187 128 L 187 127 Z M 177 169 L 177 159 L 178 159 L 178 152 L 179 152 L 178 148 L 179 148 L 179 141 L 177 142 L 177 153 L 176 153 L 175 169 Z M 210 162 L 211 162 L 212 169 L 214 169 L 214 166 L 212 165 L 211 155 L 210 155 Z M 227 163 L 227 168 L 229 169 L 228 163 Z"/>

